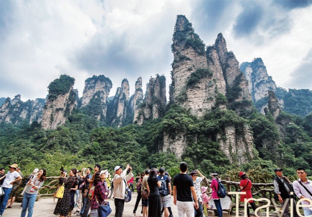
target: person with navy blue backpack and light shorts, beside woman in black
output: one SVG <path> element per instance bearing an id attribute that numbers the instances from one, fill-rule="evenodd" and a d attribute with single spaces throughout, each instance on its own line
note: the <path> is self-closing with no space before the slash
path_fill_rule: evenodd
<path id="1" fill-rule="evenodd" d="M 158 179 L 161 182 L 159 194 L 161 196 L 161 206 L 164 207 L 165 217 L 169 217 L 168 207 L 171 206 L 171 181 L 169 176 L 165 175 L 165 168 L 159 169 L 160 175 Z"/>

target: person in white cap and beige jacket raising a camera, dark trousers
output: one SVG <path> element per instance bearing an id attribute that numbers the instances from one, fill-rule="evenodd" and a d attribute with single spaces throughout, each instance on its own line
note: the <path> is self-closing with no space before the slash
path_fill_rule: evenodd
<path id="1" fill-rule="evenodd" d="M 129 174 L 127 174 L 127 170 Z M 127 181 L 133 176 L 132 168 L 130 164 L 127 164 L 126 169 L 122 171 L 122 166 L 116 166 L 114 168 L 115 176 L 114 182 L 114 203 L 115 203 L 115 217 L 122 217 L 123 206 L 125 203 L 125 190 Z"/>

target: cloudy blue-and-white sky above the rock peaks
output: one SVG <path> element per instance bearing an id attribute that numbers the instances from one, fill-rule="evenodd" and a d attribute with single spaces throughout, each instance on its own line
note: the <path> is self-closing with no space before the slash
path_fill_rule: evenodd
<path id="1" fill-rule="evenodd" d="M 45 98 L 61 74 L 83 94 L 93 75 L 110 78 L 115 95 L 123 78 L 165 75 L 171 83 L 177 15 L 213 45 L 222 33 L 240 63 L 262 58 L 276 85 L 312 89 L 312 0 L 2 0 L 0 97 Z"/>

